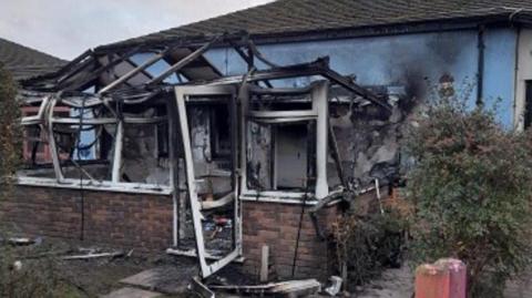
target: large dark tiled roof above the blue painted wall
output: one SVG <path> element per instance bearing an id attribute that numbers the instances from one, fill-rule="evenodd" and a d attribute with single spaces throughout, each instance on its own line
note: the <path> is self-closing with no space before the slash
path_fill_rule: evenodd
<path id="1" fill-rule="evenodd" d="M 277 0 L 108 47 L 239 31 L 272 35 L 487 17 L 508 21 L 531 12 L 532 0 Z"/>

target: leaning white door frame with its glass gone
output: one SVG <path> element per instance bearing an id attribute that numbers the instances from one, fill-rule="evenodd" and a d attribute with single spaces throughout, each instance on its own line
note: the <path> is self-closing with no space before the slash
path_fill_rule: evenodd
<path id="1" fill-rule="evenodd" d="M 242 216 L 241 216 L 241 207 L 238 202 L 238 183 L 237 183 L 237 119 L 236 115 L 236 89 L 232 85 L 219 85 L 219 86 L 176 86 L 175 88 L 175 95 L 177 101 L 177 111 L 180 116 L 180 129 L 181 129 L 181 136 L 183 140 L 183 152 L 184 152 L 184 160 L 185 160 L 185 176 L 187 183 L 187 193 L 191 203 L 192 209 L 192 217 L 193 217 L 193 225 L 194 225 L 194 235 L 195 235 L 195 243 L 196 243 L 196 255 L 200 261 L 200 267 L 202 270 L 202 277 L 206 278 L 212 274 L 216 273 L 217 270 L 222 269 L 224 266 L 229 264 L 232 260 L 236 259 L 242 255 Z M 187 106 L 192 104 L 205 104 L 208 106 L 209 103 L 226 104 L 228 109 L 228 116 L 229 121 L 225 122 L 229 125 L 229 137 L 231 137 L 231 153 L 227 155 L 226 158 L 231 160 L 231 191 L 228 194 L 225 194 L 223 197 L 215 198 L 214 201 L 204 202 L 201 199 L 198 192 L 202 192 L 205 185 L 205 178 L 200 177 L 198 171 L 195 166 L 198 166 L 201 163 L 197 161 L 197 144 L 193 144 L 196 140 L 192 140 L 191 137 L 191 126 L 190 120 L 191 116 L 188 114 Z M 208 110 L 208 109 L 207 109 Z M 207 130 L 207 127 L 205 127 Z M 216 133 L 216 130 L 227 129 L 227 127 L 216 127 L 211 125 L 209 127 L 213 130 L 212 134 Z M 194 132 L 195 133 L 195 132 Z M 212 135 L 215 142 L 219 141 L 219 135 Z M 206 142 L 207 143 L 207 142 Z M 211 143 L 211 142 L 208 142 Z M 202 151 L 204 154 L 205 160 L 212 161 L 212 152 L 211 150 Z M 212 163 L 212 162 L 211 162 Z M 208 169 L 207 172 L 209 172 Z M 204 173 L 205 169 L 201 169 L 200 172 Z M 212 183 L 209 184 L 213 187 Z M 212 193 L 214 193 L 211 189 Z M 221 256 L 217 260 L 213 263 L 207 263 L 206 257 L 209 256 L 209 251 L 206 250 L 205 247 L 205 236 L 204 236 L 204 227 L 202 224 L 202 219 L 204 218 L 204 213 L 206 210 L 212 212 L 216 208 L 229 208 L 233 214 L 233 224 L 232 224 L 232 234 L 233 234 L 233 244 L 232 250 L 227 253 L 225 256 Z"/>

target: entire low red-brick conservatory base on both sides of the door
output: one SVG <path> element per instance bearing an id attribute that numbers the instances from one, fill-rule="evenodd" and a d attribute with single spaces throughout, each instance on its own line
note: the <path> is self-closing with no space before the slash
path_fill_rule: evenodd
<path id="1" fill-rule="evenodd" d="M 374 197 L 368 194 L 358 202 L 369 206 Z M 172 246 L 172 210 L 171 196 L 84 191 L 84 239 L 90 244 L 161 251 Z M 291 278 L 300 213 L 301 205 L 243 202 L 245 271 L 258 276 L 260 250 L 263 245 L 268 245 L 273 271 L 279 278 Z M 338 214 L 336 206 L 321 209 L 320 227 L 330 228 Z M 19 236 L 79 239 L 80 192 L 17 186 L 13 196 L 0 204 L 0 224 L 9 225 L 9 230 Z M 325 280 L 332 274 L 332 261 L 327 242 L 316 236 L 307 207 L 295 277 Z"/>

